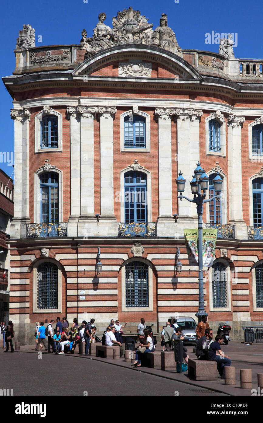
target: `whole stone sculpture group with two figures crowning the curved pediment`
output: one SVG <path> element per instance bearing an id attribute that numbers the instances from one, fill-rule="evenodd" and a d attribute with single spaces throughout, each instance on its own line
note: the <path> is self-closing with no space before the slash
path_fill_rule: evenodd
<path id="1" fill-rule="evenodd" d="M 87 50 L 84 58 L 112 46 L 121 44 L 155 44 L 158 47 L 181 55 L 181 49 L 177 44 L 174 31 L 167 26 L 167 16 L 162 14 L 160 26 L 155 31 L 153 24 L 141 15 L 139 10 L 132 7 L 119 11 L 112 18 L 113 28 L 104 23 L 106 14 L 99 14 L 99 22 L 93 30 L 93 37 L 87 37 L 87 31 L 83 30 L 80 45 Z"/>

